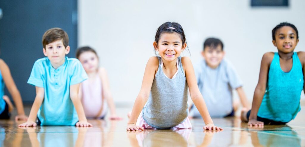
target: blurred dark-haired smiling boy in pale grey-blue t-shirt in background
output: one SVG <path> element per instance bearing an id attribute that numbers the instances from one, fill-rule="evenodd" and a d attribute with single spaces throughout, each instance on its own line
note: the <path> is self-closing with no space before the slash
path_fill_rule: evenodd
<path id="1" fill-rule="evenodd" d="M 233 65 L 223 59 L 223 43 L 216 38 L 208 38 L 203 44 L 202 56 L 196 71 L 198 88 L 206 102 L 211 117 L 234 116 L 238 104 L 233 105 L 232 90 L 237 90 L 243 107 L 250 108 L 242 82 Z M 190 116 L 201 117 L 195 106 Z"/>

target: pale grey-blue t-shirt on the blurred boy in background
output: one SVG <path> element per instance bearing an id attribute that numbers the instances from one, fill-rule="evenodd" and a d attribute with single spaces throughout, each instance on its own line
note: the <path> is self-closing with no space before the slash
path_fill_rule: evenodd
<path id="1" fill-rule="evenodd" d="M 202 60 L 195 68 L 198 88 L 206 103 L 211 117 L 224 117 L 232 110 L 232 89 L 242 86 L 233 65 L 223 59 L 217 68 L 210 68 L 205 60 Z M 190 116 L 201 117 L 194 105 Z"/>

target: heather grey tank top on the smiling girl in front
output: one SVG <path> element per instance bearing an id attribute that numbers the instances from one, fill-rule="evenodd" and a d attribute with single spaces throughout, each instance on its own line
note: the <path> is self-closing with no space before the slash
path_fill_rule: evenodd
<path id="1" fill-rule="evenodd" d="M 149 98 L 142 110 L 142 117 L 150 126 L 157 129 L 170 129 L 184 122 L 188 117 L 188 85 L 178 57 L 178 73 L 169 79 L 159 68 L 152 82 Z"/>

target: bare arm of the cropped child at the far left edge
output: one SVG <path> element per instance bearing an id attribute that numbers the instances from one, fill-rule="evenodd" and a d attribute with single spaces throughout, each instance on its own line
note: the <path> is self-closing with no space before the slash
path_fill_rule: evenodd
<path id="1" fill-rule="evenodd" d="M 3 77 L 3 81 L 4 81 L 7 89 L 9 90 L 9 93 L 12 95 L 16 108 L 17 108 L 18 115 L 15 117 L 15 120 L 27 120 L 27 116 L 24 114 L 23 103 L 22 103 L 22 99 L 21 99 L 19 90 L 17 89 L 17 87 L 15 85 L 15 82 L 13 80 L 9 67 L 2 59 L 0 59 L 0 68 L 1 68 L 1 74 Z M 0 97 L 0 98 L 2 98 L 2 97 Z"/>

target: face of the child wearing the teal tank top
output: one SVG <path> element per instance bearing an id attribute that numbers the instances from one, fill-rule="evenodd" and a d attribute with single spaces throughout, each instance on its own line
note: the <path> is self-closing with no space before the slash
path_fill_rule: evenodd
<path id="1" fill-rule="evenodd" d="M 296 48 L 299 39 L 297 39 L 296 31 L 289 27 L 283 26 L 275 33 L 275 40 L 272 40 L 274 46 L 278 48 L 279 52 L 291 53 Z"/>

